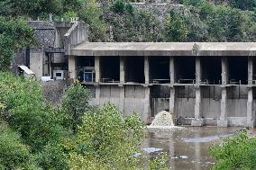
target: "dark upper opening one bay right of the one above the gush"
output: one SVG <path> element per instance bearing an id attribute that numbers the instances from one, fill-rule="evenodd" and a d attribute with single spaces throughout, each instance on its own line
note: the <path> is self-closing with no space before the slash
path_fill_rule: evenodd
<path id="1" fill-rule="evenodd" d="M 193 84 L 196 81 L 196 58 L 175 58 L 176 82 L 180 84 Z"/>

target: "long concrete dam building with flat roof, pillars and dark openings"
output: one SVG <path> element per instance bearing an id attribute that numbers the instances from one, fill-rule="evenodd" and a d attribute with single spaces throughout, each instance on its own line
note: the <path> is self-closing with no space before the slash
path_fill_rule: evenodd
<path id="1" fill-rule="evenodd" d="M 94 104 L 143 121 L 169 109 L 182 124 L 254 126 L 254 42 L 85 42 L 66 55 L 70 78 L 92 89 Z"/>

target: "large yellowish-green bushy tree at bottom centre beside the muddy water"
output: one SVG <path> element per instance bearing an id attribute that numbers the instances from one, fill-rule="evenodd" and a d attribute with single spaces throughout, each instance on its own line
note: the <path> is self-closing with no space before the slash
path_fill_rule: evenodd
<path id="1" fill-rule="evenodd" d="M 71 169 L 144 169 L 140 164 L 141 157 L 134 157 L 135 153 L 141 152 L 143 130 L 137 115 L 123 117 L 112 104 L 87 112 L 76 138 L 65 145 L 70 153 Z M 156 166 L 166 167 L 159 160 L 151 164 L 151 169 Z"/>

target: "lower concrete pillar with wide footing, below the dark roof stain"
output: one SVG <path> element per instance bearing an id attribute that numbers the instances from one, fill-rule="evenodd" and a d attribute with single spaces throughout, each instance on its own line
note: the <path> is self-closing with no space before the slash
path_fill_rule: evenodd
<path id="1" fill-rule="evenodd" d="M 201 112 L 201 88 L 196 86 L 195 119 L 191 121 L 191 126 L 204 126 L 205 120 L 202 119 Z"/>

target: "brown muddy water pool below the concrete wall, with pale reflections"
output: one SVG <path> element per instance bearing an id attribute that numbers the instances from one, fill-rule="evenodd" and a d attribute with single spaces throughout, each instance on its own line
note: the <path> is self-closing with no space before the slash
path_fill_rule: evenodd
<path id="1" fill-rule="evenodd" d="M 150 130 L 142 148 L 149 157 L 168 153 L 172 170 L 206 170 L 215 165 L 209 148 L 241 128 L 190 128 L 182 130 Z"/>

